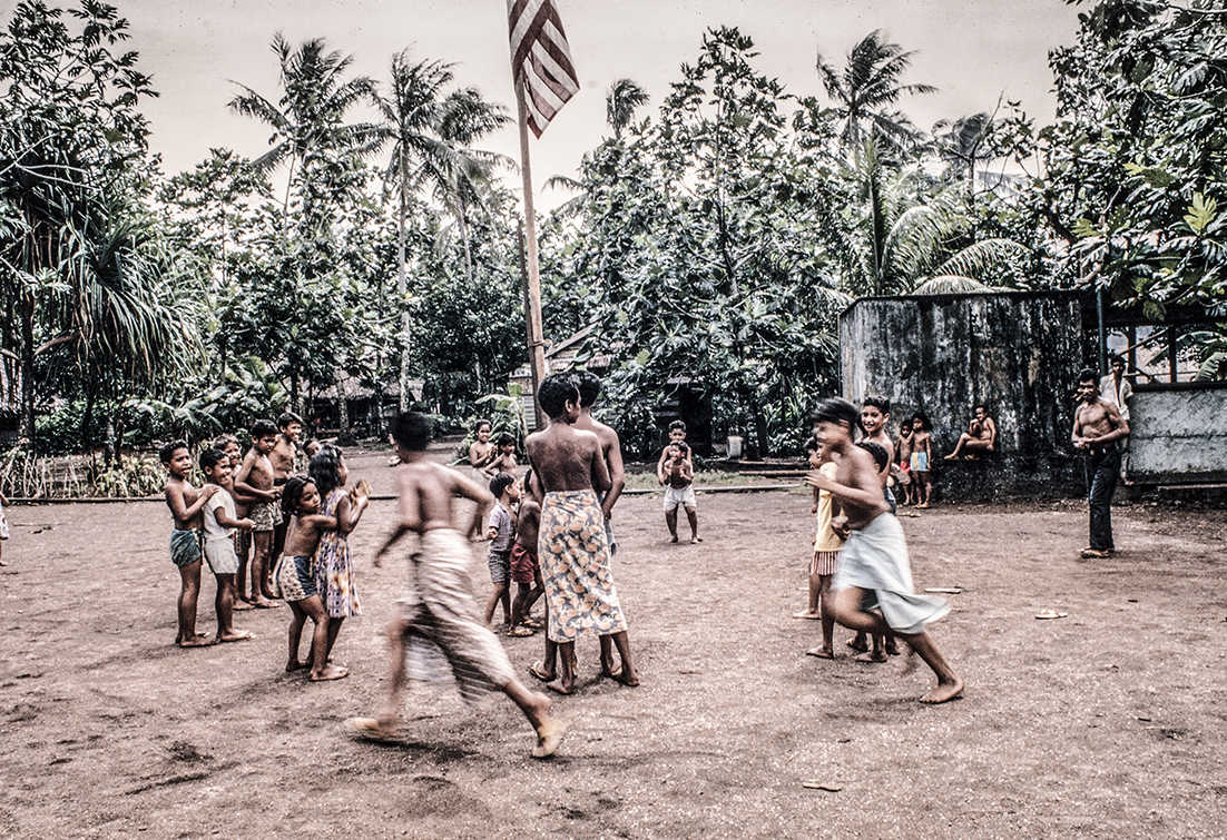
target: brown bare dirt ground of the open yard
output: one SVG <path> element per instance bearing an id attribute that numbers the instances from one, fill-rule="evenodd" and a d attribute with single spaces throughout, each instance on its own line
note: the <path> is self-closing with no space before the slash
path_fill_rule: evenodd
<path id="1" fill-rule="evenodd" d="M 351 472 L 391 488 L 379 456 Z M 615 574 L 643 685 L 598 682 L 595 639 L 582 640 L 580 692 L 557 703 L 573 728 L 551 762 L 529 758 L 509 701 L 470 710 L 447 684 L 410 693 L 400 746 L 342 735 L 384 685 L 379 630 L 405 564 L 369 558 L 391 502 L 352 537 L 364 613 L 337 643 L 352 676 L 324 684 L 282 673 L 287 609 L 239 613 L 250 643 L 171 645 L 161 504 L 11 509 L 0 834 L 1222 834 L 1222 511 L 1118 508 L 1123 552 L 1108 562 L 1077 559 L 1076 503 L 906 516 L 917 585 L 966 587 L 935 638 L 967 695 L 926 708 L 923 667 L 804 656 L 818 634 L 789 617 L 805 597 L 804 494 L 699 505 L 692 547 L 663 540 L 659 497 L 620 503 Z M 206 582 L 201 629 L 211 601 Z M 1036 620 L 1044 607 L 1069 617 Z M 520 673 L 540 655 L 540 638 L 503 641 Z"/>

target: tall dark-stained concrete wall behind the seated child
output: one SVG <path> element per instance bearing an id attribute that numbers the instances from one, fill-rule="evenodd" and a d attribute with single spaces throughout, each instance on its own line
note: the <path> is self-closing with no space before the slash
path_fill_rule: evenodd
<path id="1" fill-rule="evenodd" d="M 839 319 L 839 354 L 844 397 L 888 397 L 892 438 L 899 419 L 924 411 L 939 459 L 966 430 L 972 406 L 989 406 L 998 455 L 939 460 L 936 486 L 946 498 L 1080 486 L 1081 465 L 1069 445 L 1074 378 L 1083 363 L 1075 294 L 865 298 Z"/>

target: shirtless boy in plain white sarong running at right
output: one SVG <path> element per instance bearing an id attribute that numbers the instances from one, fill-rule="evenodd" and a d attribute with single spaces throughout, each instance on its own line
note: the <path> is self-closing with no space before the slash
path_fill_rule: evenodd
<path id="1" fill-rule="evenodd" d="M 844 627 L 867 633 L 892 629 L 933 668 L 937 685 L 921 703 L 945 703 L 963 692 L 963 681 L 937 651 L 925 627 L 945 616 L 945 601 L 915 595 L 903 529 L 882 498 L 874 456 L 853 443 L 856 408 L 845 400 L 823 400 L 815 412 L 818 440 L 838 457 L 836 477 L 811 472 L 806 482 L 839 503 L 850 531 L 839 554 L 831 589 L 834 617 Z M 869 596 L 875 611 L 863 600 Z"/>

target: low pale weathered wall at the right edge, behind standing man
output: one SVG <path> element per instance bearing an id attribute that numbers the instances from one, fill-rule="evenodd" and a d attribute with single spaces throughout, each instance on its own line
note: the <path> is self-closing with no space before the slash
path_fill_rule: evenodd
<path id="1" fill-rule="evenodd" d="M 1134 481 L 1227 481 L 1227 383 L 1139 385 L 1129 428 Z"/>

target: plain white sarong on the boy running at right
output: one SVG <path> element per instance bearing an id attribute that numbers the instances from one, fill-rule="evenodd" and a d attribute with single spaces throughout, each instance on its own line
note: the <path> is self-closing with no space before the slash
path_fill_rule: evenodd
<path id="1" fill-rule="evenodd" d="M 856 586 L 872 595 L 882 618 L 896 633 L 924 633 L 925 624 L 947 612 L 945 598 L 917 595 L 912 586 L 912 564 L 903 527 L 892 514 L 879 514 L 872 522 L 849 535 L 839 552 L 839 565 L 831 589 Z"/>

